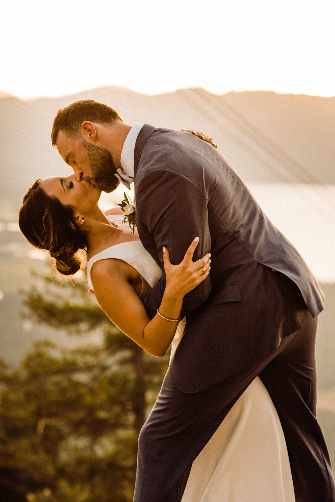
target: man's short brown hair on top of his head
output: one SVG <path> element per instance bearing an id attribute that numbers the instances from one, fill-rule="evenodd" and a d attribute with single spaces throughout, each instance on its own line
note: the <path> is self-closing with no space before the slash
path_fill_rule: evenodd
<path id="1" fill-rule="evenodd" d="M 69 138 L 81 135 L 81 124 L 88 120 L 99 124 L 107 124 L 113 120 L 121 120 L 117 111 L 106 104 L 94 101 L 94 99 L 81 99 L 60 108 L 54 120 L 51 131 L 51 141 L 56 146 L 57 137 L 63 131 Z"/>

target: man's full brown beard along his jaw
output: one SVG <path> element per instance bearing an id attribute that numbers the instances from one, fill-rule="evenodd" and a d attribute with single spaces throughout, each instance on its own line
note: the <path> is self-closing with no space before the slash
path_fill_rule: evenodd
<path id="1" fill-rule="evenodd" d="M 120 182 L 114 176 L 116 167 L 112 154 L 107 148 L 91 145 L 86 140 L 82 142 L 82 145 L 87 150 L 93 184 L 103 192 L 113 192 Z"/>

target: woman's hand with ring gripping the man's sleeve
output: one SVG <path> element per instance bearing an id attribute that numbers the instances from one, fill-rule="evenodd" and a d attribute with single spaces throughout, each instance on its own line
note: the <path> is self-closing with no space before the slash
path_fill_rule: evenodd
<path id="1" fill-rule="evenodd" d="M 165 293 L 167 295 L 176 298 L 184 297 L 208 276 L 211 269 L 211 255 L 209 253 L 196 262 L 192 261 L 198 242 L 199 237 L 196 237 L 179 265 L 172 265 L 169 251 L 163 247 L 163 262 L 166 275 Z"/>

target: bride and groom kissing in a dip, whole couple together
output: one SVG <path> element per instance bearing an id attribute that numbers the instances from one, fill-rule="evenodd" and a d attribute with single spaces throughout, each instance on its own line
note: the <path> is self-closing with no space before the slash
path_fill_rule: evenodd
<path id="1" fill-rule="evenodd" d="M 134 502 L 334 502 L 316 420 L 323 292 L 213 139 L 81 100 L 58 111 L 52 144 L 74 174 L 34 183 L 22 232 L 61 274 L 86 250 L 108 317 L 155 356 L 172 343 Z M 136 229 L 98 206 L 120 181 Z"/>

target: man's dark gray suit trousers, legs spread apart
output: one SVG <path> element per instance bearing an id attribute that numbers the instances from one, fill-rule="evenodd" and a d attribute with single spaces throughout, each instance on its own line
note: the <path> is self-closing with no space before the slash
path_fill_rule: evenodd
<path id="1" fill-rule="evenodd" d="M 317 319 L 305 307 L 297 288 L 289 283 L 286 296 L 296 306 L 301 328 L 283 338 L 265 360 L 193 394 L 179 391 L 168 370 L 140 432 L 134 502 L 182 499 L 193 460 L 257 375 L 282 424 L 296 502 L 335 501 L 329 455 L 316 420 Z"/>

